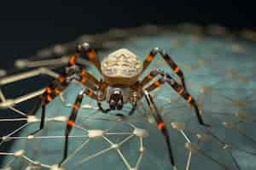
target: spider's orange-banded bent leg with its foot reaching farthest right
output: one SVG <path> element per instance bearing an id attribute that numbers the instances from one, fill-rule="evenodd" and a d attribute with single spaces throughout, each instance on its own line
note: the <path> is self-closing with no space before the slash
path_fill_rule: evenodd
<path id="1" fill-rule="evenodd" d="M 163 83 L 167 82 L 177 92 L 177 94 L 181 95 L 183 99 L 185 99 L 190 105 L 194 107 L 198 122 L 205 127 L 211 127 L 210 125 L 203 122 L 198 105 L 196 104 L 195 99 L 189 94 L 189 92 L 183 88 L 181 84 L 175 81 L 169 74 L 166 73 L 161 76 L 162 77 L 159 80 L 149 85 L 147 88 L 145 88 L 145 90 L 151 92 L 155 88 L 159 88 Z"/>

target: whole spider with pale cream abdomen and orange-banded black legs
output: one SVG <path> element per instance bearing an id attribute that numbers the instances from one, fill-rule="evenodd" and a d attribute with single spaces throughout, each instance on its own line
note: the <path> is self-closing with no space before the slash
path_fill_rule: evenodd
<path id="1" fill-rule="evenodd" d="M 148 65 L 154 59 L 156 54 L 160 54 L 160 56 L 165 59 L 166 63 L 177 74 L 180 82 L 173 79 L 167 72 L 160 71 L 159 69 L 150 71 L 142 81 L 138 81 L 138 77 L 140 77 L 143 71 L 148 68 Z M 88 56 L 90 62 L 95 65 L 96 69 L 102 74 L 103 79 L 97 80 L 96 77 L 90 74 L 90 72 L 76 65 L 76 60 L 83 55 Z M 152 79 L 157 76 L 160 78 L 149 84 Z M 62 160 L 58 164 L 59 167 L 61 167 L 61 163 L 67 159 L 68 136 L 75 125 L 75 120 L 84 96 L 95 99 L 99 111 L 102 111 L 103 113 L 108 113 L 108 111 L 113 110 L 122 110 L 123 105 L 131 103 L 132 107 L 131 111 L 128 113 L 129 116 L 136 110 L 137 102 L 140 99 L 145 98 L 151 114 L 154 116 L 155 122 L 157 123 L 157 127 L 165 137 L 167 152 L 173 169 L 177 169 L 177 165 L 172 154 L 170 137 L 166 124 L 162 116 L 160 116 L 160 111 L 155 105 L 150 92 L 155 88 L 159 88 L 166 82 L 177 92 L 177 94 L 182 96 L 183 99 L 194 107 L 198 122 L 205 127 L 210 127 L 210 125 L 203 122 L 195 99 L 187 91 L 183 71 L 177 67 L 177 64 L 172 60 L 171 56 L 166 54 L 161 48 L 153 48 L 143 62 L 138 59 L 136 54 L 131 53 L 131 51 L 125 48 L 120 48 L 114 51 L 100 62 L 94 48 L 92 48 L 88 42 L 82 42 L 76 47 L 76 52 L 70 56 L 65 71 L 63 71 L 54 82 L 50 83 L 41 95 L 40 103 L 37 106 L 38 108 L 42 107 L 40 127 L 38 130 L 31 133 L 31 135 L 38 133 L 44 128 L 46 106 L 49 102 L 55 99 L 56 96 L 61 94 L 73 80 L 82 84 L 83 88 L 77 95 L 72 107 L 71 115 L 67 120 L 64 153 Z M 146 87 L 146 85 L 148 86 Z M 109 104 L 108 109 L 102 108 L 102 101 L 104 100 Z"/>

